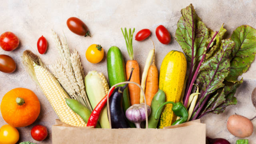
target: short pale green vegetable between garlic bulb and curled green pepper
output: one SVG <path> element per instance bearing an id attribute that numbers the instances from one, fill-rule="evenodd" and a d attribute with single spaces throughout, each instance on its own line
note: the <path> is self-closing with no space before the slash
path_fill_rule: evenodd
<path id="1" fill-rule="evenodd" d="M 155 96 L 151 102 L 151 106 L 150 106 L 151 114 L 148 117 L 148 128 L 156 128 L 157 127 L 161 112 L 164 107 L 162 107 L 160 109 L 161 112 L 158 112 L 158 116 L 157 116 L 158 120 L 155 119 L 156 111 L 164 102 L 165 102 L 164 91 L 158 90 L 158 92 L 155 94 Z"/>

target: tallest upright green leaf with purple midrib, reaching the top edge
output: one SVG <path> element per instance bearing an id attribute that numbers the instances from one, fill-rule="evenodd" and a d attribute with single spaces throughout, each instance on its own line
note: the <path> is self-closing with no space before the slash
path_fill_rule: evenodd
<path id="1" fill-rule="evenodd" d="M 192 68 L 201 60 L 205 52 L 204 46 L 209 37 L 209 30 L 197 16 L 194 6 L 190 4 L 181 10 L 182 17 L 178 21 L 175 40 L 180 44 Z M 194 52 L 194 54 L 192 54 Z"/>

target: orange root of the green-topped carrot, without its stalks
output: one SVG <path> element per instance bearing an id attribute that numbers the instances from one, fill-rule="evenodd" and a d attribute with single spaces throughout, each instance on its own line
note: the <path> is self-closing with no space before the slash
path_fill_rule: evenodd
<path id="1" fill-rule="evenodd" d="M 140 84 L 140 67 L 137 60 L 128 60 L 126 63 L 126 76 L 130 77 L 131 69 L 134 68 L 132 72 L 132 78 L 130 82 L 136 82 Z M 140 104 L 140 88 L 136 84 L 128 84 L 129 96 L 131 105 Z"/>

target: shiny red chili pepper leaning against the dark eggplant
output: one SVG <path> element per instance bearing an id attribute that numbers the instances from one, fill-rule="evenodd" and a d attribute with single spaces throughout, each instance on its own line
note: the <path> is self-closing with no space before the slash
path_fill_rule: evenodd
<path id="1" fill-rule="evenodd" d="M 112 90 L 109 93 L 109 98 L 111 96 L 111 94 L 113 93 L 115 88 L 112 88 Z M 92 111 L 90 118 L 87 122 L 87 126 L 94 126 L 94 128 L 96 128 L 99 116 L 100 116 L 100 112 L 103 109 L 103 107 L 105 106 L 105 104 L 107 103 L 107 96 L 108 94 L 106 94 L 106 96 L 104 96 L 104 98 L 102 98 L 102 100 L 97 104 L 97 106 L 94 108 L 94 110 Z"/>

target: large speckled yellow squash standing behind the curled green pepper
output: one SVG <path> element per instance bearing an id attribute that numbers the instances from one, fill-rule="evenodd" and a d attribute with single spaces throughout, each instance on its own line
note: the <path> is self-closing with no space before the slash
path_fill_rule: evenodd
<path id="1" fill-rule="evenodd" d="M 187 61 L 182 52 L 170 51 L 160 68 L 159 89 L 166 94 L 165 101 L 179 102 L 186 77 Z M 176 120 L 172 104 L 166 104 L 162 111 L 158 128 L 170 126 Z"/>

